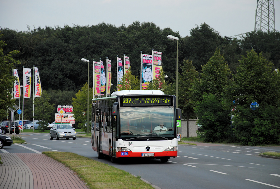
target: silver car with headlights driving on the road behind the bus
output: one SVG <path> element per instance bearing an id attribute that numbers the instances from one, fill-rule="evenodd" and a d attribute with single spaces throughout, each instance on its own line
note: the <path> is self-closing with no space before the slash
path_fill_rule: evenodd
<path id="1" fill-rule="evenodd" d="M 49 130 L 49 139 L 59 140 L 60 138 L 72 138 L 76 140 L 76 131 L 69 124 L 54 124 L 54 126 Z"/>

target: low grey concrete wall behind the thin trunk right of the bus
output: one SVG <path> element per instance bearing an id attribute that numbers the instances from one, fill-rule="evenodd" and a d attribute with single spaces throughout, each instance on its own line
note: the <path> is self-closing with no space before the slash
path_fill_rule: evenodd
<path id="1" fill-rule="evenodd" d="M 189 137 L 197 136 L 197 120 L 198 119 L 189 119 Z M 181 137 L 187 137 L 187 120 L 181 120 L 181 127 L 178 127 L 178 133 L 181 134 Z"/>

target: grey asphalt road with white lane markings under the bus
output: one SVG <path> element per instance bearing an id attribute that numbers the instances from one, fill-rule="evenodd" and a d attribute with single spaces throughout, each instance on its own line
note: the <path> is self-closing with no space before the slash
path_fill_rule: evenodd
<path id="1" fill-rule="evenodd" d="M 4 147 L 0 153 L 73 152 L 169 188 L 280 188 L 280 160 L 259 156 L 265 151 L 280 152 L 279 147 L 248 147 L 198 144 L 180 145 L 178 157 L 162 164 L 157 159 L 126 159 L 118 164 L 98 159 L 90 138 L 49 140 L 48 134 L 22 136 L 27 144 Z"/>

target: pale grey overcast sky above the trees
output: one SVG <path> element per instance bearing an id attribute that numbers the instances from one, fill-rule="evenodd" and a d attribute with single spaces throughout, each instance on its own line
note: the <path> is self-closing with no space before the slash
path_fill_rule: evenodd
<path id="1" fill-rule="evenodd" d="M 17 31 L 64 25 L 126 27 L 133 21 L 170 27 L 181 37 L 208 24 L 222 36 L 254 30 L 257 0 L 0 0 L 0 26 Z M 275 29 L 280 31 L 280 1 L 274 1 Z"/>

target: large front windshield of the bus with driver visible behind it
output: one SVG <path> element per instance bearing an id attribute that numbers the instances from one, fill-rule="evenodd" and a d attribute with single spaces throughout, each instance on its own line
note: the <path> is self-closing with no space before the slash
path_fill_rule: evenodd
<path id="1" fill-rule="evenodd" d="M 170 137 L 174 138 L 175 136 L 175 128 L 173 107 L 120 108 L 120 134 L 123 139 L 170 139 Z"/>

